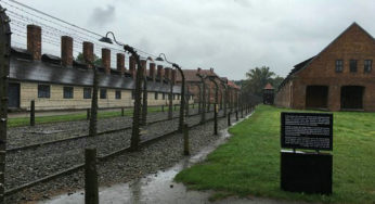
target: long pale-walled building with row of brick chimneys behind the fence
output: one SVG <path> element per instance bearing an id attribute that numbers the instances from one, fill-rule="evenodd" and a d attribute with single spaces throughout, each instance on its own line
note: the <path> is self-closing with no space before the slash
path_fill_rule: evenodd
<path id="1" fill-rule="evenodd" d="M 93 71 L 73 56 L 73 38 L 62 36 L 61 56 L 42 53 L 41 27 L 27 26 L 27 49 L 12 48 L 9 82 L 9 107 L 29 110 L 35 100 L 36 110 L 76 110 L 91 106 Z M 91 42 L 82 43 L 82 54 L 93 60 Z M 135 62 L 130 59 L 125 67 L 124 53 L 116 54 L 116 68 L 111 66 L 111 50 L 102 49 L 102 66 L 99 69 L 99 107 L 132 106 Z M 164 69 L 154 62 L 141 61 L 148 67 L 147 104 L 168 104 L 170 85 L 176 73 Z M 157 66 L 157 73 L 156 73 Z M 174 74 L 173 74 L 174 73 Z M 173 86 L 173 103 L 180 102 L 180 86 Z"/>

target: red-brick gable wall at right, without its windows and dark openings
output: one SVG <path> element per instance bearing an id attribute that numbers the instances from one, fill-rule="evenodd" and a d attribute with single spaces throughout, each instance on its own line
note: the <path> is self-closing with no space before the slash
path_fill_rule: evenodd
<path id="1" fill-rule="evenodd" d="M 336 60 L 344 61 L 342 73 L 336 72 Z M 357 73 L 350 73 L 349 61 L 358 61 Z M 364 60 L 372 60 L 371 73 L 364 73 Z M 342 86 L 363 86 L 364 111 L 375 111 L 375 40 L 357 24 L 351 25 L 327 48 L 318 54 L 307 68 L 297 72 L 290 84 L 286 84 L 276 94 L 280 106 L 292 104 L 294 109 L 306 109 L 307 86 L 328 87 L 328 109 L 340 110 Z M 290 92 L 292 90 L 292 92 Z M 290 97 L 292 94 L 292 97 Z M 292 101 L 290 101 L 292 100 Z"/>

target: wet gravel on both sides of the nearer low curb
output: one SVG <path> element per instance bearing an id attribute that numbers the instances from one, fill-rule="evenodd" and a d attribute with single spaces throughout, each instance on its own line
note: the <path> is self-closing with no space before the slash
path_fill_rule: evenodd
<path id="1" fill-rule="evenodd" d="M 212 114 L 207 114 L 207 118 Z M 188 119 L 190 125 L 199 123 L 199 116 L 193 116 Z M 234 115 L 232 115 L 234 122 Z M 164 124 L 155 124 L 148 126 L 147 135 L 143 139 L 157 137 L 174 130 L 178 119 L 166 122 Z M 202 126 L 197 126 L 190 130 L 191 153 L 196 153 L 201 148 L 215 141 L 217 136 L 212 135 L 212 122 Z M 219 129 L 227 128 L 227 118 L 219 119 Z M 153 133 L 151 133 L 153 132 Z M 129 144 L 129 133 L 120 132 L 105 135 L 105 137 L 96 137 L 94 139 L 73 141 L 72 143 L 59 144 L 56 146 L 48 146 L 37 149 L 35 151 L 22 154 L 10 154 L 7 164 L 7 188 L 15 187 L 22 182 L 31 181 L 48 173 L 56 171 L 61 168 L 72 166 L 83 162 L 83 148 L 87 145 L 96 145 L 99 154 L 104 154 L 116 150 L 118 146 L 124 148 Z M 146 174 L 156 173 L 159 169 L 168 168 L 179 162 L 182 155 L 182 135 L 174 133 L 171 137 L 161 139 L 151 145 L 142 148 L 139 152 L 125 153 L 115 158 L 100 163 L 99 181 L 101 186 L 116 182 L 126 182 Z M 15 171 L 13 174 L 13 171 Z M 40 183 L 30 189 L 8 196 L 10 203 L 23 203 L 26 201 L 48 199 L 52 194 L 59 192 L 73 192 L 83 187 L 83 173 L 75 173 L 64 176 L 47 183 Z"/>

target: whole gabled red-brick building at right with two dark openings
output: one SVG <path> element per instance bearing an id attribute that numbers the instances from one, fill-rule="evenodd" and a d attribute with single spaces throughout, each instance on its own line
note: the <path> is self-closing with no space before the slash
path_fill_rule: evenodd
<path id="1" fill-rule="evenodd" d="M 275 104 L 293 109 L 375 111 L 375 40 L 357 23 L 319 54 L 294 66 Z"/>

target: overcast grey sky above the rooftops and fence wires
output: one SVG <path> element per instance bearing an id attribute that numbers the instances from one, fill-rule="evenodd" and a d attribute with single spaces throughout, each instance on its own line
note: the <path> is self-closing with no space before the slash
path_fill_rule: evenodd
<path id="1" fill-rule="evenodd" d="M 257 66 L 286 76 L 351 23 L 375 35 L 373 0 L 18 0 L 183 68 L 231 79 Z M 1 2 L 0 2 L 1 3 Z"/>

